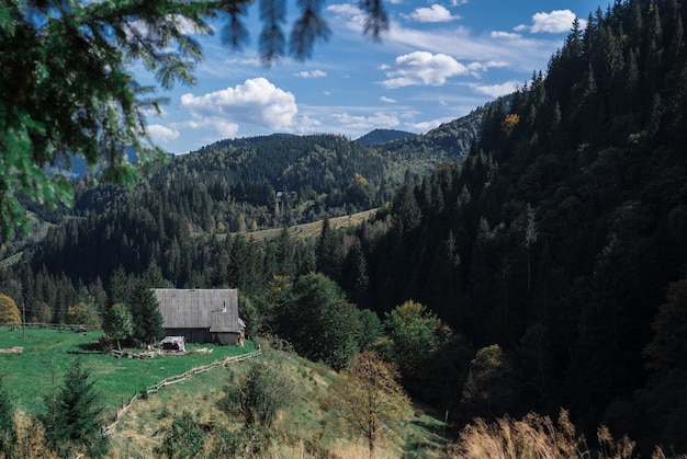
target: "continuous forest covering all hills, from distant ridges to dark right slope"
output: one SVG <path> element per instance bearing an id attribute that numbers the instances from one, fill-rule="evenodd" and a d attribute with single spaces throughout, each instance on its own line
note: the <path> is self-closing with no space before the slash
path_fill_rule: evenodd
<path id="1" fill-rule="evenodd" d="M 685 451 L 686 15 L 617 1 L 574 24 L 545 74 L 426 136 L 227 140 L 132 193 L 83 184 L 0 291 L 65 321 L 133 277 L 237 287 L 251 333 L 337 368 L 374 348 L 457 428 L 564 408 L 644 456 Z M 286 230 L 320 218 L 316 240 Z M 267 227 L 284 229 L 245 234 Z"/>

